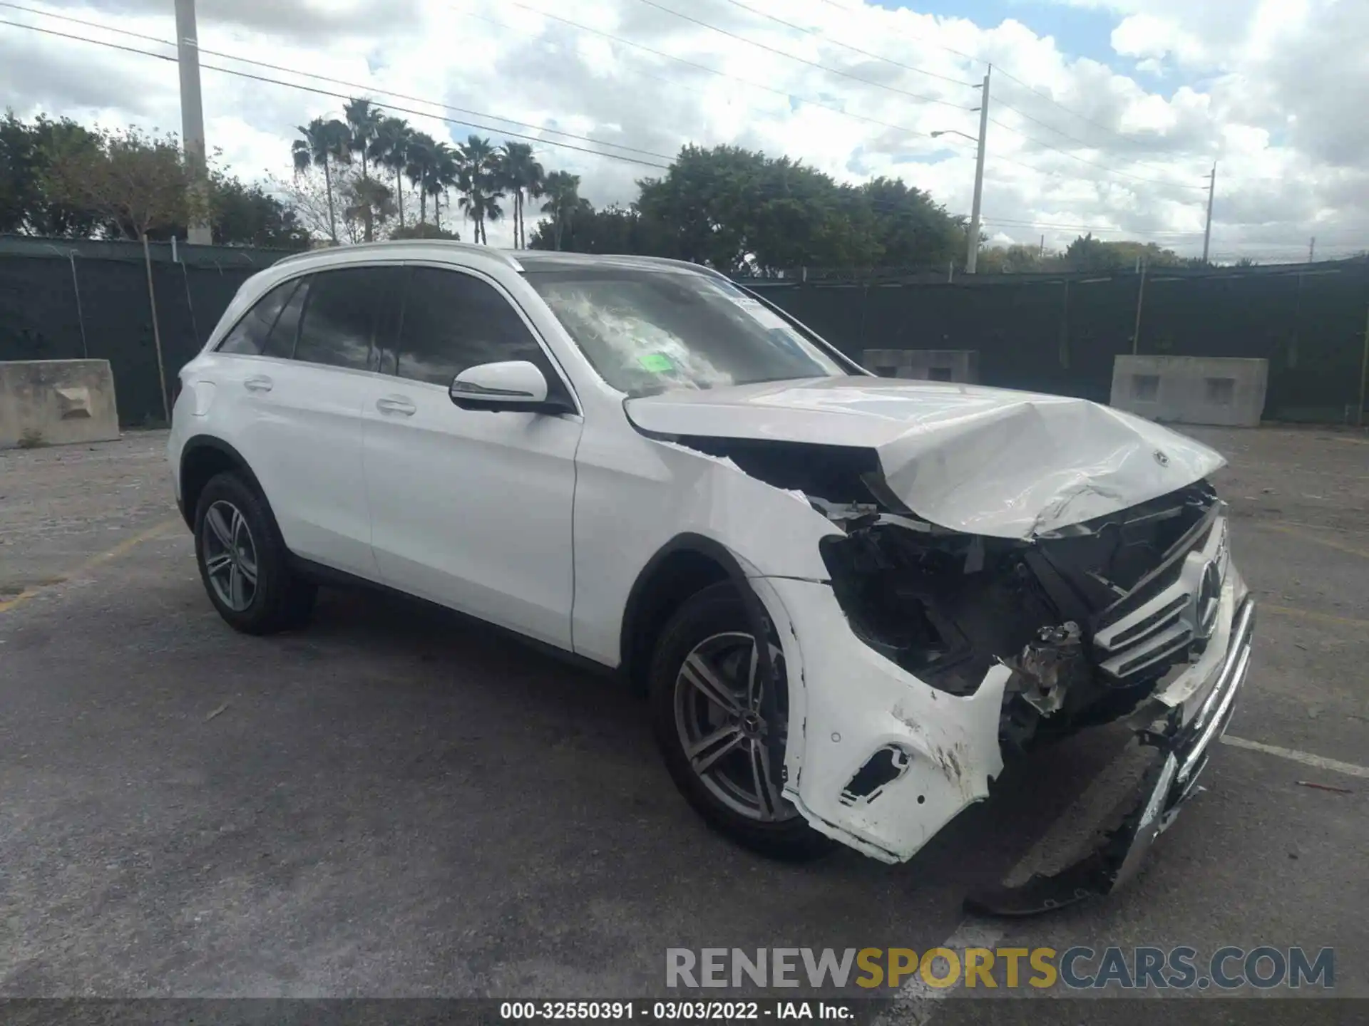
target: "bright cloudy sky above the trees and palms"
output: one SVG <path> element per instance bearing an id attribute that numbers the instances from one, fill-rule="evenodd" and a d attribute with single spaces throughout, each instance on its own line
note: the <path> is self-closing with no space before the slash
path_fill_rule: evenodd
<path id="1" fill-rule="evenodd" d="M 0 21 L 171 55 L 172 7 L 22 0 Z M 931 134 L 976 134 L 993 64 L 997 242 L 1092 228 L 1201 253 L 1216 161 L 1214 259 L 1369 249 L 1366 0 L 199 0 L 199 29 L 208 141 L 244 178 L 289 176 L 294 126 L 366 93 L 438 138 L 533 135 L 596 205 L 684 142 L 728 142 L 968 212 L 975 144 Z M 0 107 L 181 123 L 174 63 L 4 23 Z"/>

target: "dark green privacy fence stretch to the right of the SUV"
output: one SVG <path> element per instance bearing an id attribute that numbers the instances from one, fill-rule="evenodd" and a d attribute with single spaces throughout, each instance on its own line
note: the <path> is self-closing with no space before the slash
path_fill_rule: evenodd
<path id="1" fill-rule="evenodd" d="M 867 349 L 972 349 L 984 384 L 1106 402 L 1121 353 L 1254 357 L 1269 361 L 1268 420 L 1354 423 L 1362 409 L 1364 260 L 946 279 L 746 285 L 857 360 Z"/>

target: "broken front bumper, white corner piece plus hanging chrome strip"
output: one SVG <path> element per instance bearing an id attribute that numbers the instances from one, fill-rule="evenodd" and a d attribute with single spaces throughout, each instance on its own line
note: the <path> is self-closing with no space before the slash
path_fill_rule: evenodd
<path id="1" fill-rule="evenodd" d="M 999 718 L 1013 670 L 995 663 L 973 694 L 949 694 L 861 642 L 828 584 L 752 583 L 780 628 L 790 681 L 784 796 L 823 834 L 882 862 L 912 858 L 965 806 L 986 798 L 988 781 L 1002 772 Z M 1250 665 L 1253 627 L 1254 603 L 1232 570 L 1206 651 L 1129 720 L 1155 748 L 1155 763 L 1117 829 L 1062 873 L 986 891 L 969 903 L 1031 914 L 1108 893 L 1134 876 L 1195 792 L 1210 746 L 1225 731 Z"/>

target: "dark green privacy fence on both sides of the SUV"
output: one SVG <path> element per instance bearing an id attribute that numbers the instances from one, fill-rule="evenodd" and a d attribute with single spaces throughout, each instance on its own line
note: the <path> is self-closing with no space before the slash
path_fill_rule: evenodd
<path id="1" fill-rule="evenodd" d="M 153 246 L 168 379 L 204 345 L 242 282 L 282 256 Z M 1361 405 L 1369 330 L 1362 260 L 950 282 L 945 272 L 809 275 L 747 285 L 857 360 L 865 349 L 973 349 L 986 384 L 1106 402 L 1113 357 L 1134 346 L 1259 357 L 1269 360 L 1266 419 L 1353 423 Z M 141 248 L 0 238 L 0 360 L 78 357 L 110 361 L 126 425 L 162 419 Z"/>

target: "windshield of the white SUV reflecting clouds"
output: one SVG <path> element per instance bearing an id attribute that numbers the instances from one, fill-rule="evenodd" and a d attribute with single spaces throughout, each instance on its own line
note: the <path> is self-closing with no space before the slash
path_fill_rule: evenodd
<path id="1" fill-rule="evenodd" d="M 708 275 L 559 267 L 526 276 L 600 376 L 628 395 L 847 373 L 764 304 Z"/>

